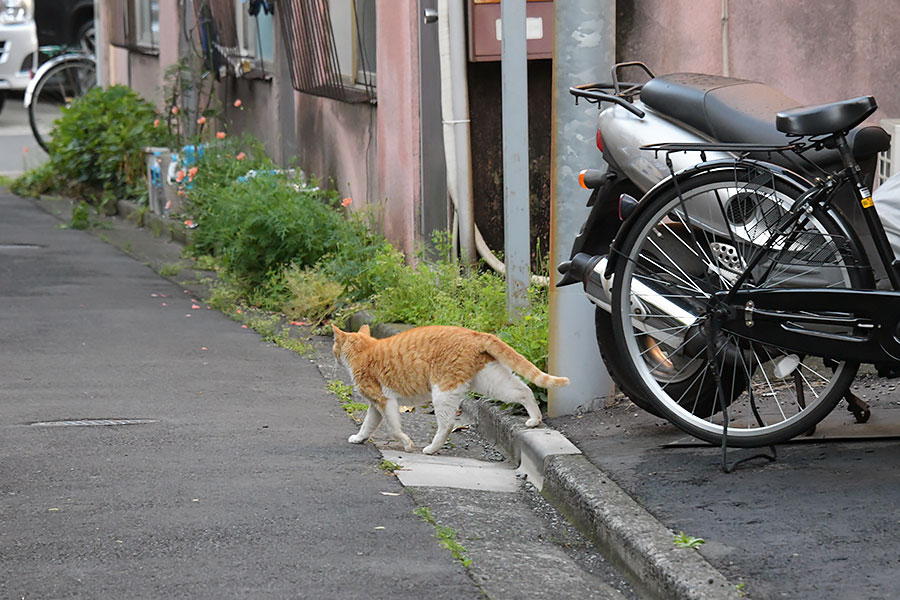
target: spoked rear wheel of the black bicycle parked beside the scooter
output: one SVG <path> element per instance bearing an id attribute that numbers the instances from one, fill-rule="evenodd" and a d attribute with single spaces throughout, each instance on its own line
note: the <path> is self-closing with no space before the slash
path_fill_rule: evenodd
<path id="1" fill-rule="evenodd" d="M 660 414 L 712 443 L 726 430 L 717 376 L 729 445 L 776 444 L 809 430 L 840 401 L 858 364 L 727 331 L 710 340 L 708 299 L 730 289 L 760 253 L 744 287 L 865 287 L 865 258 L 839 218 L 818 207 L 778 237 L 804 190 L 765 167 L 738 163 L 691 177 L 680 191 L 647 200 L 616 264 L 613 329 L 626 376 Z M 680 384 L 670 386 L 660 369 Z"/>

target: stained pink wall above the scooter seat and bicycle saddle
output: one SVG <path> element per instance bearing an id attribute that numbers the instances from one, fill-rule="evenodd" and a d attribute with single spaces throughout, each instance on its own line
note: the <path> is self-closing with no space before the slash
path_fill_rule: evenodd
<path id="1" fill-rule="evenodd" d="M 900 117 L 896 0 L 728 0 L 728 74 L 800 103 L 873 95 Z M 722 0 L 620 0 L 617 57 L 657 73 L 723 73 Z"/>

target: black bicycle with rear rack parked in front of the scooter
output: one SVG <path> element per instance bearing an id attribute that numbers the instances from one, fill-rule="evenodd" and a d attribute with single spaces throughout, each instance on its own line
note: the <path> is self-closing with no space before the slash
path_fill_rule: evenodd
<path id="1" fill-rule="evenodd" d="M 779 113 L 783 146 L 644 147 L 665 154 L 670 177 L 610 248 L 602 275 L 612 277 L 615 348 L 658 414 L 722 445 L 723 467 L 727 446 L 811 431 L 849 393 L 860 363 L 900 364 L 900 260 L 846 137 L 876 108 L 861 97 Z M 822 148 L 836 149 L 842 167 L 803 158 Z M 672 153 L 707 151 L 736 158 L 674 171 Z M 799 157 L 818 176 L 749 158 L 758 153 Z M 848 185 L 873 257 L 834 203 Z M 875 263 L 890 290 L 876 289 Z"/>

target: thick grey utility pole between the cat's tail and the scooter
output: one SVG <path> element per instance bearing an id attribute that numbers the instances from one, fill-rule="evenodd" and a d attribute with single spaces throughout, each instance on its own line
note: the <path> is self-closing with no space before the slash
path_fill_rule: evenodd
<path id="1" fill-rule="evenodd" d="M 504 0 L 505 2 L 506 0 Z M 555 265 L 568 260 L 572 241 L 588 214 L 588 195 L 578 185 L 585 168 L 605 166 L 593 144 L 597 108 L 575 106 L 569 87 L 606 81 L 616 58 L 615 0 L 554 2 L 553 124 L 550 172 L 550 357 L 554 375 L 571 380 L 550 390 L 551 417 L 592 410 L 613 395 L 594 336 L 594 306 L 580 285 L 556 288 Z"/>

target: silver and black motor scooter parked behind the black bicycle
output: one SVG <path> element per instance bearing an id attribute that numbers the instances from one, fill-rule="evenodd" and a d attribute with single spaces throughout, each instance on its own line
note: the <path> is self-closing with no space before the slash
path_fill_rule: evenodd
<path id="1" fill-rule="evenodd" d="M 637 79 L 646 81 L 625 81 L 620 75 L 626 69 L 638 71 Z M 597 274 L 608 275 L 605 263 L 611 244 L 645 193 L 684 169 L 733 159 L 737 154 L 734 151 L 659 153 L 642 148 L 660 142 L 719 142 L 748 147 L 787 145 L 791 139 L 775 128 L 775 116 L 802 103 L 758 81 L 697 73 L 655 76 L 640 62 L 617 64 L 612 69 L 611 82 L 577 85 L 570 93 L 576 102 L 587 100 L 600 109 L 597 148 L 606 169 L 586 169 L 580 174 L 582 187 L 591 191 L 587 203 L 591 210 L 573 241 L 569 260 L 558 266 L 562 277 L 556 285 L 581 283 L 585 286 L 588 298 L 597 306 L 596 335 L 607 370 L 635 404 L 655 413 L 650 403 L 633 393 L 618 366 L 609 314 L 614 282 Z M 864 180 L 871 188 L 877 155 L 887 149 L 890 136 L 880 127 L 861 126 L 850 131 L 847 137 Z M 837 150 L 825 147 L 802 156 L 751 150 L 741 155 L 778 165 L 791 177 L 806 182 L 841 164 Z M 838 197 L 837 207 L 854 224 L 863 222 L 862 212 L 849 190 Z M 856 229 L 864 231 L 865 227 Z M 874 253 L 871 239 L 861 238 L 867 253 Z M 876 273 L 876 277 L 885 276 Z M 645 351 L 653 353 L 655 349 Z M 657 369 L 657 373 L 666 377 L 664 368 Z M 677 376 L 673 370 L 672 377 Z M 670 390 L 676 389 L 671 381 L 667 385 Z M 711 404 L 709 411 L 714 410 Z"/>

